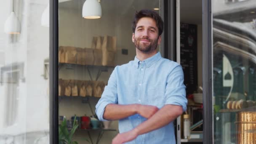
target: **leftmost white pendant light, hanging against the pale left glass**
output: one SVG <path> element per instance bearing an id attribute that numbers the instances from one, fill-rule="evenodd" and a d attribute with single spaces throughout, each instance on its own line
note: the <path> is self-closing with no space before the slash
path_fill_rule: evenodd
<path id="1" fill-rule="evenodd" d="M 14 1 L 13 1 L 14 5 Z M 21 23 L 18 17 L 14 13 L 14 6 L 11 11 L 10 16 L 5 21 L 5 33 L 7 34 L 20 34 L 21 33 Z"/>

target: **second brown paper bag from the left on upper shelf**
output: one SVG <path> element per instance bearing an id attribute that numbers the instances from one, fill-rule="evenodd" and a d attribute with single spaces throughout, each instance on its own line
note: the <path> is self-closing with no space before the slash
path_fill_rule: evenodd
<path id="1" fill-rule="evenodd" d="M 76 64 L 77 63 L 77 49 L 75 47 L 66 47 L 65 63 Z"/>

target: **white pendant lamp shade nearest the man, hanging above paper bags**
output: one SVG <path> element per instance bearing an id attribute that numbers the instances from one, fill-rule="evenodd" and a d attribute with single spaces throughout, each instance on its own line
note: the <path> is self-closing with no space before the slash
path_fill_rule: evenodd
<path id="1" fill-rule="evenodd" d="M 82 15 L 85 19 L 101 18 L 101 4 L 98 0 L 86 0 L 83 4 Z"/>

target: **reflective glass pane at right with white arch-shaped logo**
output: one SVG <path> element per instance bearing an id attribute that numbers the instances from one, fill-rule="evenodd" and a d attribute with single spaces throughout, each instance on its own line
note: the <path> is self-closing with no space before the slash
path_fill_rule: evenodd
<path id="1" fill-rule="evenodd" d="M 256 143 L 256 2 L 213 0 L 214 143 Z"/>

